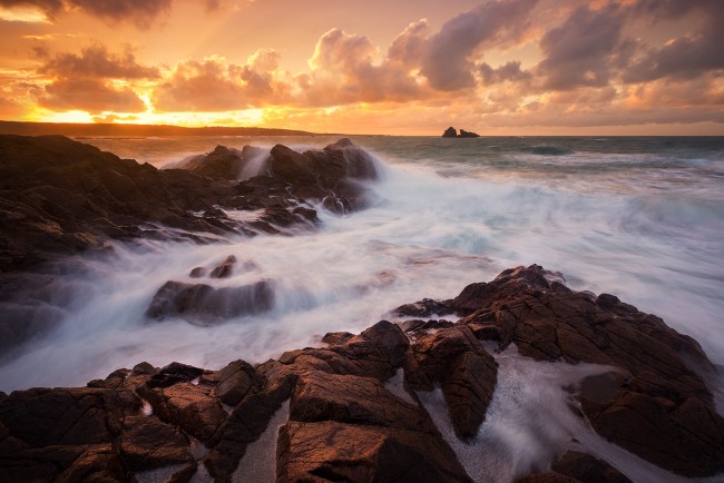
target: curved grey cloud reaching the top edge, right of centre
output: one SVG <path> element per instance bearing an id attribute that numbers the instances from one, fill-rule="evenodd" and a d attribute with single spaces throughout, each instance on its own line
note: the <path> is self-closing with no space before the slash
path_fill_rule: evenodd
<path id="1" fill-rule="evenodd" d="M 476 85 L 473 55 L 483 47 L 502 46 L 522 38 L 537 0 L 488 0 L 446 22 L 432 36 L 421 72 L 432 88 L 453 91 Z"/>

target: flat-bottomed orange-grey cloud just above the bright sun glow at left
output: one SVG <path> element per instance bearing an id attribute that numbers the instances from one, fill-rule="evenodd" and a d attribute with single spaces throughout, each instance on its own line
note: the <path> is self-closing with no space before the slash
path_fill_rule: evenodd
<path id="1" fill-rule="evenodd" d="M 59 79 L 46 86 L 38 105 L 53 110 L 139 112 L 144 102 L 128 86 L 115 87 L 96 79 Z"/>

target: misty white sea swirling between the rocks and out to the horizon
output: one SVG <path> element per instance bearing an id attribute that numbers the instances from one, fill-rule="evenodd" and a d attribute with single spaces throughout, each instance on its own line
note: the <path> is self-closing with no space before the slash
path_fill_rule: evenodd
<path id="1" fill-rule="evenodd" d="M 222 144 L 292 148 L 336 138 L 85 139 L 157 166 Z M 401 304 L 450 298 L 500 270 L 539 264 L 574 289 L 612 293 L 663 317 L 724 364 L 724 139 L 356 137 L 384 179 L 371 208 L 294 236 L 116 244 L 65 277 L 58 329 L 0 367 L 0 391 L 85 385 L 119 367 L 262 362 L 359 332 Z M 539 148 L 539 149 L 536 149 Z M 548 148 L 548 149 L 540 149 Z M 244 216 L 243 213 L 229 213 Z M 270 280 L 270 313 L 200 326 L 149 322 L 167 280 L 228 255 L 246 264 L 215 286 Z M 207 279 L 204 279 L 207 283 Z"/>

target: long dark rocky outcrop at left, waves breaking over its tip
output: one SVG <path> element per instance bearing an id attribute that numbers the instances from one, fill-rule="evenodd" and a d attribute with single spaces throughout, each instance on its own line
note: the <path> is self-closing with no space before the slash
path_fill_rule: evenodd
<path id="1" fill-rule="evenodd" d="M 164 226 L 195 240 L 256 231 L 217 207 L 271 210 L 262 219 L 267 226 L 314 224 L 307 200 L 340 213 L 360 209 L 359 181 L 379 177 L 371 156 L 349 139 L 304 154 L 277 145 L 266 161 L 271 176 L 239 183 L 254 156 L 256 148 L 218 146 L 185 169 L 159 170 L 62 136 L 0 136 L 0 270 L 100 249 L 108 239 L 170 236 Z"/>

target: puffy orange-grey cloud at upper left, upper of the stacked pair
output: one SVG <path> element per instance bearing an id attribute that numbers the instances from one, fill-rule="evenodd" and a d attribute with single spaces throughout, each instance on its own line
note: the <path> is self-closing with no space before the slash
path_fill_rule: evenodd
<path id="1" fill-rule="evenodd" d="M 39 51 L 38 55 L 48 57 L 43 51 Z M 126 49 L 123 55 L 115 55 L 98 43 L 86 47 L 79 56 L 59 53 L 48 58 L 39 72 L 59 77 L 81 76 L 104 79 L 153 79 L 159 76 L 158 69 L 140 66 L 130 49 Z"/>

